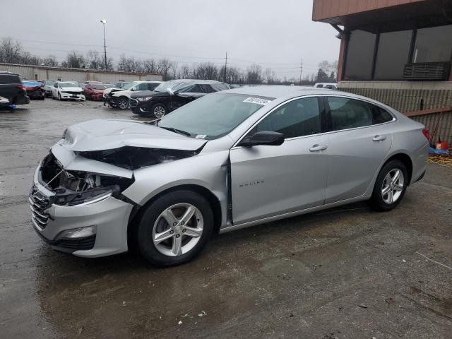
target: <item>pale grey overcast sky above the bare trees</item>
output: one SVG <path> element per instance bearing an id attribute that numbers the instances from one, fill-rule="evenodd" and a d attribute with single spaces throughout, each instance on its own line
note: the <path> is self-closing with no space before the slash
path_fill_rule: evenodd
<path id="1" fill-rule="evenodd" d="M 315 73 L 322 60 L 338 59 L 337 32 L 314 23 L 312 0 L 14 0 L 1 1 L 0 37 L 11 36 L 41 57 L 67 52 L 107 56 L 168 57 L 179 65 L 203 61 L 246 68 L 256 62 L 280 78 Z"/>

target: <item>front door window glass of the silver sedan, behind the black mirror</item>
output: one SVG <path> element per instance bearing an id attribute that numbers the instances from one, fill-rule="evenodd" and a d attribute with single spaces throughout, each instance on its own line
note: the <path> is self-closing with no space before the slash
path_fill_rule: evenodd
<path id="1" fill-rule="evenodd" d="M 253 133 L 283 133 L 286 139 L 321 133 L 319 100 L 316 97 L 292 100 L 270 113 L 253 130 Z"/>

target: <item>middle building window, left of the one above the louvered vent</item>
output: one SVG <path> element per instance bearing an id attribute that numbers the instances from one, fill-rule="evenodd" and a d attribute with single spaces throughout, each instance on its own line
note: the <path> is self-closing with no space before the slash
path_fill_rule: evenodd
<path id="1" fill-rule="evenodd" d="M 376 54 L 375 75 L 378 80 L 401 79 L 410 54 L 412 30 L 381 33 Z"/>

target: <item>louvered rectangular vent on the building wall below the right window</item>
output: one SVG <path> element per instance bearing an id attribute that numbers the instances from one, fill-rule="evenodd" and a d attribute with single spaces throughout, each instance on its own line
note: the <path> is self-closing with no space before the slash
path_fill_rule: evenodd
<path id="1" fill-rule="evenodd" d="M 403 78 L 406 80 L 448 80 L 450 62 L 420 62 L 406 64 Z"/>

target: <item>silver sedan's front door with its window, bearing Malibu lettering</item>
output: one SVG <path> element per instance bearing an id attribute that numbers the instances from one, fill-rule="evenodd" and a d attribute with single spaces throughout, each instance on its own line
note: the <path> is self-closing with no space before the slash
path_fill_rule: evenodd
<path id="1" fill-rule="evenodd" d="M 320 112 L 316 97 L 292 100 L 268 114 L 249 133 L 283 133 L 283 145 L 230 150 L 235 225 L 324 203 L 328 135 L 319 134 Z"/>

